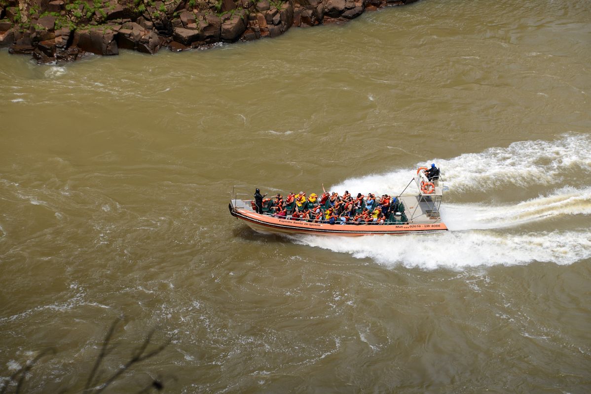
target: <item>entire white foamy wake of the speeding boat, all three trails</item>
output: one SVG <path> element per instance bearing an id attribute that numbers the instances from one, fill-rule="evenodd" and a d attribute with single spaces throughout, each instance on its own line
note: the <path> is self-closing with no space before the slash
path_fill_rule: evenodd
<path id="1" fill-rule="evenodd" d="M 536 261 L 572 264 L 591 258 L 589 225 L 569 230 L 558 230 L 555 225 L 567 218 L 591 215 L 591 180 L 584 185 L 564 186 L 570 184 L 570 176 L 587 173 L 591 168 L 591 136 L 566 134 L 554 141 L 515 142 L 504 148 L 431 161 L 440 166 L 446 185 L 455 193 L 472 192 L 475 178 L 483 190 L 535 182 L 545 186 L 548 192 L 527 201 L 497 205 L 444 202 L 441 218 L 451 230 L 444 234 L 292 239 L 357 258 L 371 258 L 380 264 L 426 269 Z M 415 168 L 425 164 L 347 179 L 333 186 L 331 191 L 364 194 L 401 191 L 414 175 Z M 532 178 L 527 169 L 534 169 L 537 176 Z M 534 222 L 547 223 L 546 231 L 519 231 L 519 226 Z"/>

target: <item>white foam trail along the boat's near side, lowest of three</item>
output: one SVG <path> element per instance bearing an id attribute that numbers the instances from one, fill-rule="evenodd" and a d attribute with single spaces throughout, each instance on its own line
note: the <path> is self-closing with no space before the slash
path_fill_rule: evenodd
<path id="1" fill-rule="evenodd" d="M 587 231 L 542 232 L 505 235 L 491 231 L 444 234 L 382 235 L 379 237 L 292 238 L 295 242 L 372 258 L 388 266 L 404 265 L 433 270 L 462 269 L 479 265 L 517 265 L 530 262 L 572 264 L 591 258 L 591 234 Z"/>

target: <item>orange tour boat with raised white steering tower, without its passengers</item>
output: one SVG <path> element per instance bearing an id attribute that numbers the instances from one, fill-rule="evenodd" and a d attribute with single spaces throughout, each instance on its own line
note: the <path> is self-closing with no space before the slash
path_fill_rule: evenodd
<path id="1" fill-rule="evenodd" d="M 269 199 L 262 206 L 262 214 L 255 210 L 253 199 L 239 199 L 238 196 L 249 196 L 248 193 L 238 191 L 245 186 L 234 186 L 228 208 L 230 214 L 237 219 L 242 219 L 248 226 L 262 234 L 317 234 L 317 235 L 338 235 L 338 236 L 360 236 L 376 234 L 417 234 L 447 231 L 447 226 L 441 222 L 439 207 L 443 200 L 443 179 L 428 180 L 424 171 L 426 167 L 417 170 L 417 175 L 411 179 L 407 187 L 392 198 L 392 205 L 388 217 L 384 218 L 383 224 L 376 222 L 336 221 L 330 224 L 327 221 L 302 220 L 292 217 L 296 204 L 286 206 L 287 214 L 278 216 L 271 209 L 275 201 Z M 405 194 L 408 187 L 415 184 L 418 193 Z M 330 201 L 326 202 L 324 208 L 329 208 Z M 311 208 L 311 205 L 310 205 Z M 357 212 L 365 208 L 365 199 Z"/>

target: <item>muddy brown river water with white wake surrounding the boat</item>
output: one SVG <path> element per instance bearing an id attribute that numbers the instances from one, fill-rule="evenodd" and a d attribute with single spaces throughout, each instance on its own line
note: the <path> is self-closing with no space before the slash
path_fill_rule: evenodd
<path id="1" fill-rule="evenodd" d="M 26 392 L 588 393 L 591 3 L 424 0 L 207 51 L 0 52 L 0 376 Z M 258 235 L 262 192 L 400 192 L 452 231 Z M 15 386 L 9 387 L 9 392 Z"/>

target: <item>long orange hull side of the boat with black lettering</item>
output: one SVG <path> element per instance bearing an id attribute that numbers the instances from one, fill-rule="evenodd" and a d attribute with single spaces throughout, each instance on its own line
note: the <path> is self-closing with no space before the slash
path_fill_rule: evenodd
<path id="1" fill-rule="evenodd" d="M 247 209 L 233 208 L 232 204 L 229 205 L 229 209 L 232 216 L 242 219 L 252 229 L 263 234 L 313 234 L 338 237 L 359 237 L 362 235 L 403 235 L 447 231 L 447 226 L 441 222 L 407 225 L 343 225 L 274 218 L 268 215 L 257 214 L 256 212 Z"/>

